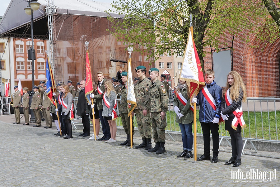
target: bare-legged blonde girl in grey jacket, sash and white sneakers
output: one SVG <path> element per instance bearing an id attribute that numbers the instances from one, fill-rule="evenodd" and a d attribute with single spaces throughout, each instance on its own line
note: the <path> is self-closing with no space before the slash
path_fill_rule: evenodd
<path id="1" fill-rule="evenodd" d="M 102 116 L 106 119 L 110 126 L 110 134 L 111 138 L 106 140 L 107 143 L 114 143 L 117 142 L 116 134 L 117 134 L 117 100 L 116 100 L 116 92 L 113 88 L 113 85 L 110 80 L 105 81 L 105 92 L 103 95 L 102 105 L 103 105 L 103 112 Z"/>

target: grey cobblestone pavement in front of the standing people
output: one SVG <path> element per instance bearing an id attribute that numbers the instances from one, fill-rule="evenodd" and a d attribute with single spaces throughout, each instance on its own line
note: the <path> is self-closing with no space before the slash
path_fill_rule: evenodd
<path id="1" fill-rule="evenodd" d="M 270 158 L 243 155 L 242 165 L 234 168 L 224 165 L 231 157 L 225 148 L 215 164 L 194 163 L 194 158 L 176 158 L 181 142 L 167 141 L 166 153 L 156 155 L 119 146 L 124 136 L 113 144 L 79 137 L 77 131 L 72 139 L 63 139 L 54 136 L 55 126 L 15 125 L 13 118 L 0 116 L 0 186 L 279 186 L 279 153 L 258 152 Z M 141 143 L 140 138 L 134 143 Z M 203 145 L 197 147 L 199 157 Z M 254 179 L 257 169 L 260 180 Z M 240 178 L 234 180 L 236 174 Z"/>

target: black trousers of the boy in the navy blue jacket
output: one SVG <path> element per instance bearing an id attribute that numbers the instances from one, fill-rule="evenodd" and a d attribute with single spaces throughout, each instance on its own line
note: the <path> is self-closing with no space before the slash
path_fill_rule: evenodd
<path id="1" fill-rule="evenodd" d="M 219 154 L 219 125 L 217 123 L 204 123 L 200 122 L 203 132 L 204 141 L 204 156 L 210 156 L 210 131 L 212 134 L 213 141 L 213 156 L 218 156 Z"/>

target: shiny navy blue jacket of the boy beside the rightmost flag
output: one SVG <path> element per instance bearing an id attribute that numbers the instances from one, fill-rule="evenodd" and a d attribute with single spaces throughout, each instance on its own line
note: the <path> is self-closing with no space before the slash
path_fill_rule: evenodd
<path id="1" fill-rule="evenodd" d="M 213 121 L 214 117 L 220 118 L 221 116 L 222 88 L 215 81 L 211 84 L 206 84 L 206 87 L 216 101 L 216 111 L 208 103 L 201 90 L 196 96 L 198 99 L 196 104 L 199 105 L 199 121 L 209 123 Z"/>

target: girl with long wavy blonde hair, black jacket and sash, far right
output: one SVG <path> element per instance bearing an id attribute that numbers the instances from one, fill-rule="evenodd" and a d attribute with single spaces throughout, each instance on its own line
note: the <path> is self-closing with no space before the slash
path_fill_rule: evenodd
<path id="1" fill-rule="evenodd" d="M 246 126 L 243 119 L 241 103 L 245 102 L 246 98 L 246 88 L 240 74 L 236 71 L 229 72 L 227 75 L 224 105 L 222 105 L 221 115 L 225 120 L 225 130 L 228 131 L 231 136 L 232 156 L 225 164 L 233 164 L 233 167 L 241 165 L 243 148 L 241 129 Z"/>

